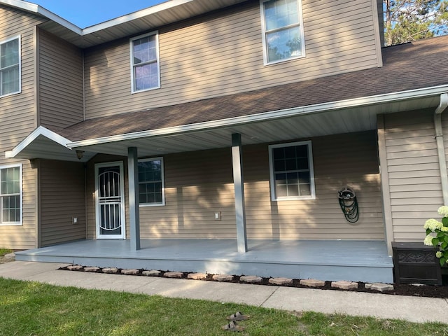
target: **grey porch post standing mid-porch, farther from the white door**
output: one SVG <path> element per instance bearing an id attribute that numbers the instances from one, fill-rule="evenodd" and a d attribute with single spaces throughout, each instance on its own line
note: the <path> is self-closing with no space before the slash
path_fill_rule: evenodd
<path id="1" fill-rule="evenodd" d="M 235 214 L 237 217 L 237 245 L 239 253 L 247 252 L 246 211 L 244 208 L 244 179 L 241 155 L 241 134 L 232 134 L 233 185 L 235 186 Z"/>

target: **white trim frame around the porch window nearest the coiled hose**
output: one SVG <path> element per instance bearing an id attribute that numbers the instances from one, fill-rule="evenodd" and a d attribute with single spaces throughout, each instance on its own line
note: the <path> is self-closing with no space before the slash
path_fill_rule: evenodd
<path id="1" fill-rule="evenodd" d="M 274 181 L 274 158 L 272 158 L 272 149 L 290 146 L 307 145 L 308 147 L 308 162 L 309 162 L 309 183 L 311 189 L 311 195 L 307 196 L 294 196 L 294 197 L 276 197 L 275 193 L 275 181 Z M 313 165 L 313 150 L 311 147 L 311 140 L 297 141 L 288 144 L 276 144 L 269 145 L 269 176 L 271 183 L 271 200 L 272 201 L 292 201 L 292 200 L 316 200 L 316 188 L 314 186 L 314 165 Z"/>

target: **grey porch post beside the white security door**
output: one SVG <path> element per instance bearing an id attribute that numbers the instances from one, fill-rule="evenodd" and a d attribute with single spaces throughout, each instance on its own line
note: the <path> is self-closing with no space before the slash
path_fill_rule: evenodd
<path id="1" fill-rule="evenodd" d="M 137 147 L 127 148 L 127 177 L 129 180 L 129 218 L 131 249 L 140 249 L 139 168 Z"/>

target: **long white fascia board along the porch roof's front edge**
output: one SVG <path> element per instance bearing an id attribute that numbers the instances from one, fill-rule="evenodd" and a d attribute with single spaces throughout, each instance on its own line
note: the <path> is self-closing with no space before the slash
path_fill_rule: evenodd
<path id="1" fill-rule="evenodd" d="M 294 116 L 304 116 L 312 113 L 322 113 L 326 111 L 349 109 L 358 106 L 367 106 L 373 104 L 384 104 L 391 102 L 398 102 L 406 99 L 416 99 L 423 97 L 430 97 L 436 94 L 448 92 L 448 85 L 440 85 L 435 87 L 426 87 L 423 89 L 408 90 L 402 92 L 393 92 L 387 94 L 378 94 L 369 97 L 361 97 L 354 99 L 339 100 L 336 102 L 328 102 L 321 104 L 314 104 L 308 106 L 298 106 L 291 109 L 283 109 L 277 111 L 269 111 L 265 113 L 252 114 L 249 116 L 241 116 L 220 120 L 207 121 L 204 123 L 195 123 L 182 126 L 160 128 L 158 130 L 148 130 L 141 132 L 133 132 L 127 134 L 113 135 L 111 137 L 101 137 L 96 139 L 87 139 L 80 141 L 73 141 L 67 144 L 68 148 L 78 148 L 84 146 L 92 146 L 99 144 L 107 144 L 116 141 L 128 141 L 141 138 L 150 137 L 166 137 L 169 135 L 184 134 L 189 132 L 197 132 L 204 130 L 212 130 L 222 127 L 231 127 L 237 125 L 244 125 L 248 123 L 257 123 L 260 121 L 275 120 L 281 118 L 290 118 Z"/>

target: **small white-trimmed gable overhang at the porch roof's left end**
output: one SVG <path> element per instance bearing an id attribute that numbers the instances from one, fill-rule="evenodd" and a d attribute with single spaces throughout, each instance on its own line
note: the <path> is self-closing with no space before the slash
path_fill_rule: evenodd
<path id="1" fill-rule="evenodd" d="M 39 126 L 23 139 L 18 146 L 11 151 L 5 152 L 6 158 L 18 159 L 48 159 L 86 162 L 93 157 L 94 153 L 85 153 L 82 158 L 78 158 L 76 150 L 68 148 L 66 145 L 71 142 L 69 139 Z M 81 156 L 81 155 L 79 155 Z"/>

